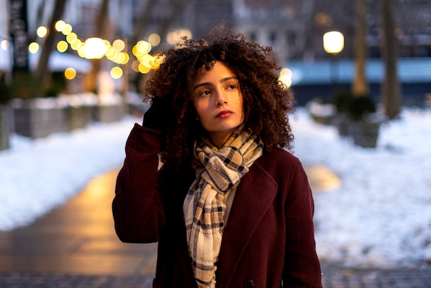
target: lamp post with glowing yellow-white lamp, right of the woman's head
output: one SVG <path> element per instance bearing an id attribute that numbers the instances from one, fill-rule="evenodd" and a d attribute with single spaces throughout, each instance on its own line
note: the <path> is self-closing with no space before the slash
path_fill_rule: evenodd
<path id="1" fill-rule="evenodd" d="M 337 66 L 335 61 L 337 60 L 337 54 L 344 48 L 344 35 L 338 31 L 326 32 L 323 36 L 324 50 L 331 55 L 330 74 L 331 82 L 333 85 L 333 92 L 337 90 Z"/>

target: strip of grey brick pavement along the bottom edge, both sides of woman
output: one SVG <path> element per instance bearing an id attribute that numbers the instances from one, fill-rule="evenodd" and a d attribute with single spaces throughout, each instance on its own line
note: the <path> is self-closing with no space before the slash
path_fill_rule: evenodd
<path id="1" fill-rule="evenodd" d="M 327 267 L 324 288 L 430 288 L 430 269 L 357 270 Z M 151 288 L 151 275 L 0 274 L 2 288 Z"/>

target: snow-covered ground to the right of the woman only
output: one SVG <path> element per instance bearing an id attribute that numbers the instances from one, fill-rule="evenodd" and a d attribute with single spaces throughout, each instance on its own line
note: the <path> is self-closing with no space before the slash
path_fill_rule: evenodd
<path id="1" fill-rule="evenodd" d="M 341 187 L 315 194 L 317 253 L 363 267 L 431 261 L 431 111 L 403 110 L 381 127 L 376 149 L 355 147 L 306 114 L 295 154 L 322 163 Z"/>

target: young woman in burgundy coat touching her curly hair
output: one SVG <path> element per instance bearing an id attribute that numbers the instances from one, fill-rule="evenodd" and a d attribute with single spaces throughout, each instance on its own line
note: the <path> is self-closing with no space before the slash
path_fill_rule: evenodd
<path id="1" fill-rule="evenodd" d="M 116 233 L 158 242 L 153 287 L 322 287 L 311 189 L 287 151 L 293 96 L 271 48 L 214 33 L 169 50 L 147 81 Z"/>

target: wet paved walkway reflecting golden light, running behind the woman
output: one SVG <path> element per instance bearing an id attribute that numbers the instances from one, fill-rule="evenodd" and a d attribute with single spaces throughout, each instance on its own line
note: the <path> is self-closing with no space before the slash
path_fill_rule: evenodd
<path id="1" fill-rule="evenodd" d="M 0 232 L 0 287 L 151 287 L 156 244 L 121 243 L 114 232 L 117 172 L 94 178 L 32 225 Z M 315 192 L 339 185 L 325 167 L 306 167 L 306 172 Z M 355 270 L 322 263 L 322 271 L 325 288 L 431 287 L 430 269 Z"/>

